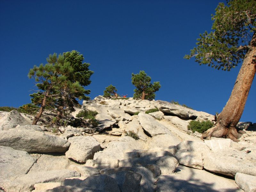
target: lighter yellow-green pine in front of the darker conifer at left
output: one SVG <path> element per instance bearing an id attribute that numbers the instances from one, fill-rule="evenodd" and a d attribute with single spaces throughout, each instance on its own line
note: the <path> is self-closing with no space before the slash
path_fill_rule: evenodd
<path id="1" fill-rule="evenodd" d="M 57 54 L 54 53 L 49 55 L 46 60 L 47 64 L 41 64 L 39 67 L 34 66 L 28 74 L 29 78 L 34 78 L 38 82 L 36 86 L 39 88 L 37 93 L 31 94 L 32 102 L 40 106 L 33 124 L 37 123 L 47 106 L 58 108 L 57 121 L 59 121 L 63 116 L 64 109 L 68 108 L 69 111 L 73 111 L 74 107 L 78 105 L 76 99 L 88 100 L 84 94 L 90 93 L 75 80 L 76 71 L 63 55 L 60 54 L 57 57 Z M 83 72 L 81 71 L 81 73 Z M 82 76 L 80 77 L 82 78 Z"/>

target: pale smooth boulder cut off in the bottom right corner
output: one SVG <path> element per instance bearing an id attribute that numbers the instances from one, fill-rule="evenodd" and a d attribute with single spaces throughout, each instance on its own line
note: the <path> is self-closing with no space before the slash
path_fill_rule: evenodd
<path id="1" fill-rule="evenodd" d="M 236 184 L 241 189 L 244 189 L 244 192 L 256 191 L 256 176 L 246 175 L 244 173 L 236 173 L 235 180 Z"/>

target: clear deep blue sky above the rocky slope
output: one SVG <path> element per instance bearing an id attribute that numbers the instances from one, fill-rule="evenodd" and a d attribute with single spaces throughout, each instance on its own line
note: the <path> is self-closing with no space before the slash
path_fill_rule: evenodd
<path id="1" fill-rule="evenodd" d="M 77 50 L 94 71 L 92 99 L 112 84 L 133 96 L 131 74 L 160 81 L 156 100 L 211 114 L 225 106 L 240 65 L 230 72 L 183 59 L 212 26 L 220 1 L 0 1 L 0 106 L 30 103 L 28 71 L 54 52 Z M 253 81 L 240 121 L 256 122 Z"/>

